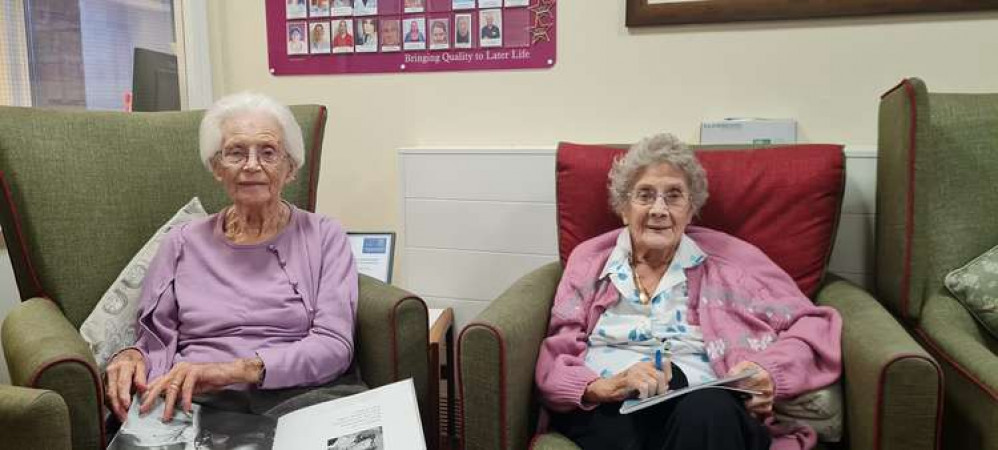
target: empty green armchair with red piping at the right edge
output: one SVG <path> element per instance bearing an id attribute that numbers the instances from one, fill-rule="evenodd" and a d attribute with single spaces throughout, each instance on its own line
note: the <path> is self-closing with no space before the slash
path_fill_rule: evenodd
<path id="1" fill-rule="evenodd" d="M 943 285 L 998 245 L 998 93 L 880 100 L 877 289 L 942 363 L 943 448 L 998 449 L 998 341 Z"/>

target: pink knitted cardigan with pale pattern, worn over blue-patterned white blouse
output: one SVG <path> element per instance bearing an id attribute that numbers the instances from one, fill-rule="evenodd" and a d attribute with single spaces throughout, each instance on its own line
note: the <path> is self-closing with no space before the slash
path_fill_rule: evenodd
<path id="1" fill-rule="evenodd" d="M 586 367 L 586 342 L 600 315 L 618 301 L 600 271 L 620 230 L 583 242 L 572 252 L 555 294 L 548 337 L 537 359 L 536 381 L 554 411 L 592 409 L 582 400 L 599 375 Z M 759 249 L 702 227 L 686 235 L 707 254 L 686 272 L 690 322 L 699 324 L 718 375 L 741 361 L 769 372 L 780 401 L 833 383 L 841 372 L 842 319 L 815 306 L 783 270 Z M 816 436 L 805 425 L 767 422 L 773 449 L 811 448 Z"/>

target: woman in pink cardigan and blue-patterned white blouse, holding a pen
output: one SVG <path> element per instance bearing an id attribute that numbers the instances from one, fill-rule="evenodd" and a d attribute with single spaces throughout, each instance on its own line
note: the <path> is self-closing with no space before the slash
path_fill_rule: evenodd
<path id="1" fill-rule="evenodd" d="M 675 137 L 635 144 L 610 171 L 625 227 L 568 259 L 536 381 L 550 426 L 584 449 L 797 449 L 805 425 L 773 402 L 833 383 L 842 322 L 759 249 L 689 226 L 707 200 L 693 152 Z M 665 355 L 656 364 L 656 356 Z M 751 397 L 705 389 L 631 414 L 621 402 L 752 371 Z"/>

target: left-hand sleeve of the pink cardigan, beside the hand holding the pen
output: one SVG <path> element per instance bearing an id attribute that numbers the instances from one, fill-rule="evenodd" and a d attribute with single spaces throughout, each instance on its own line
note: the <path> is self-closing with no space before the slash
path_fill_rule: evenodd
<path id="1" fill-rule="evenodd" d="M 586 366 L 587 314 L 596 295 L 595 281 L 586 266 L 589 261 L 573 252 L 555 293 L 547 338 L 537 356 L 535 378 L 541 400 L 553 411 L 593 409 L 596 404 L 583 402 L 589 383 L 599 375 Z"/>

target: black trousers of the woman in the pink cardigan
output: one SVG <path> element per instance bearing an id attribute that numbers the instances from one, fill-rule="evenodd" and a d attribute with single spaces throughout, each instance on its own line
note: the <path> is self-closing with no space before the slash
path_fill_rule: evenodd
<path id="1" fill-rule="evenodd" d="M 673 374 L 682 374 L 677 370 L 673 366 Z M 703 389 L 631 414 L 619 411 L 617 402 L 554 413 L 551 426 L 583 450 L 769 449 L 769 430 L 724 389 Z"/>

